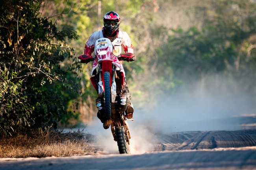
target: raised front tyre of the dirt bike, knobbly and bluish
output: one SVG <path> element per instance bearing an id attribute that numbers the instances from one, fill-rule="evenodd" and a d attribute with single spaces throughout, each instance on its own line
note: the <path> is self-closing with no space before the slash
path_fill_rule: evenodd
<path id="1" fill-rule="evenodd" d="M 105 97 L 105 116 L 110 118 L 111 109 L 110 109 L 110 73 L 104 72 L 104 97 Z"/>

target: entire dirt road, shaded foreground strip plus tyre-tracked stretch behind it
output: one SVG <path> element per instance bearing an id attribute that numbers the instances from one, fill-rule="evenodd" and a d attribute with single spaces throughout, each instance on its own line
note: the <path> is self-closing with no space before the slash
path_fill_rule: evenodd
<path id="1" fill-rule="evenodd" d="M 253 170 L 256 130 L 190 131 L 155 136 L 154 151 L 0 159 L 1 170 Z M 142 143 L 143 145 L 143 143 Z"/>

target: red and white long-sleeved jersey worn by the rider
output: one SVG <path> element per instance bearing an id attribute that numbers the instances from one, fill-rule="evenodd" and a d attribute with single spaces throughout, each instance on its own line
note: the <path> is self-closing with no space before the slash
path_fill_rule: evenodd
<path id="1" fill-rule="evenodd" d="M 94 32 L 91 37 L 88 39 L 88 41 L 85 44 L 85 50 L 83 54 L 91 55 L 91 53 L 94 51 L 94 44 L 95 41 L 99 38 L 104 38 L 102 30 Z M 118 32 L 118 35 L 116 39 L 111 42 L 113 45 L 113 54 L 118 56 L 122 53 L 122 48 L 124 48 L 125 53 L 134 53 L 134 48 L 132 46 L 132 41 L 128 35 L 128 33 L 120 31 Z"/>

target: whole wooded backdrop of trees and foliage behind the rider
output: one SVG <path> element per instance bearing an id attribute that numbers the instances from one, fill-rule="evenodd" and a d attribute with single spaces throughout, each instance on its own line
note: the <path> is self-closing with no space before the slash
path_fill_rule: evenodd
<path id="1" fill-rule="evenodd" d="M 135 109 L 148 111 L 145 104 L 153 107 L 157 98 L 171 96 L 184 86 L 193 89 L 198 86 L 195 81 L 201 82 L 202 91 L 214 87 L 210 88 L 214 94 L 221 90 L 218 75 L 241 87 L 223 90 L 245 91 L 255 102 L 253 0 L 1 3 L 2 132 L 52 122 L 74 126 L 95 118 L 91 65 L 78 64 L 76 57 L 112 10 L 120 15 L 120 30 L 128 32 L 134 45 L 136 61 L 124 63 L 124 69 Z M 21 125 L 19 120 L 28 122 Z"/>

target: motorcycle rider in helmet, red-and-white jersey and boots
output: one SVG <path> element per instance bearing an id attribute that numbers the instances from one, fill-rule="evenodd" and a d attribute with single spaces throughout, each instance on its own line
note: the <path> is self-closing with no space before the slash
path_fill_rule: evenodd
<path id="1" fill-rule="evenodd" d="M 129 35 L 126 32 L 119 30 L 119 24 L 120 24 L 120 17 L 119 15 L 114 12 L 110 11 L 106 13 L 106 15 L 103 17 L 104 27 L 100 31 L 95 31 L 88 39 L 88 41 L 85 44 L 85 50 L 84 55 L 91 55 L 92 52 L 94 52 L 94 44 L 95 41 L 99 38 L 108 38 L 112 42 L 113 45 L 113 54 L 118 56 L 121 55 L 121 46 L 124 48 L 125 53 L 134 53 L 134 48 L 132 46 L 132 41 L 129 37 Z M 122 66 L 122 61 L 120 61 L 120 64 Z M 119 70 L 119 68 L 117 68 Z M 124 70 L 120 70 L 124 73 Z M 123 87 L 123 94 L 127 94 L 129 96 L 128 100 L 128 107 L 125 111 L 126 116 L 130 119 L 133 117 L 134 108 L 132 103 L 130 102 L 130 92 L 126 83 L 125 73 L 124 73 L 124 87 Z M 96 99 L 96 101 L 98 98 Z M 103 123 L 104 129 L 109 128 L 109 124 L 105 124 L 106 118 L 104 118 L 104 115 L 98 111 L 97 117 L 101 120 Z"/>

